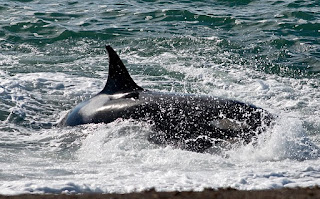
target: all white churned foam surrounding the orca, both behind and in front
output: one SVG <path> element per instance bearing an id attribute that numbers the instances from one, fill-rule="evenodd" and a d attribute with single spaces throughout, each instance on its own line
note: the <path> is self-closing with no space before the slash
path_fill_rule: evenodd
<path id="1" fill-rule="evenodd" d="M 275 125 L 252 144 L 199 154 L 150 143 L 150 126 L 136 121 L 31 132 L 23 125 L 7 123 L 12 130 L 0 132 L 0 144 L 8 146 L 0 151 L 0 194 L 125 193 L 151 187 L 159 191 L 251 190 L 320 184 L 318 80 L 266 75 L 239 65 L 220 67 L 210 61 L 194 65 L 175 62 L 181 57 L 177 53 L 186 52 L 162 53 L 148 60 L 137 56 L 131 61 L 155 62 L 167 71 L 183 74 L 184 79 L 166 75 L 162 77 L 165 80 L 155 79 L 151 84 L 142 82 L 140 76 L 133 78 L 147 88 L 177 82 L 172 91 L 249 102 L 276 115 Z M 61 104 L 71 106 L 87 99 L 104 84 L 102 79 L 46 72 L 13 76 L 0 72 L 0 80 L 2 96 L 14 103 L 9 111 L 36 124 L 57 121 L 60 110 L 67 109 L 59 107 Z M 1 99 L 7 103 L 6 98 Z M 50 116 L 48 109 L 53 113 Z"/>

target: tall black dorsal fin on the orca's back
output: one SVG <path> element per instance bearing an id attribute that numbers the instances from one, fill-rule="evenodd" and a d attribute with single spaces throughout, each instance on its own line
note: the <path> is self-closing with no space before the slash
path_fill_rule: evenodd
<path id="1" fill-rule="evenodd" d="M 130 77 L 126 67 L 112 47 L 107 45 L 106 49 L 109 54 L 109 74 L 107 83 L 101 93 L 111 95 L 143 90 Z"/>

